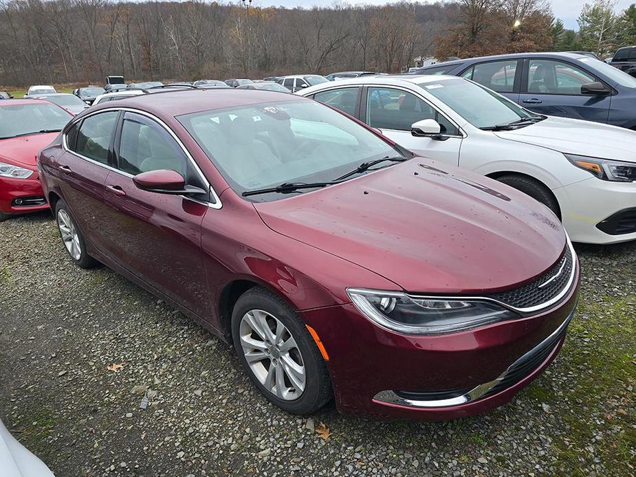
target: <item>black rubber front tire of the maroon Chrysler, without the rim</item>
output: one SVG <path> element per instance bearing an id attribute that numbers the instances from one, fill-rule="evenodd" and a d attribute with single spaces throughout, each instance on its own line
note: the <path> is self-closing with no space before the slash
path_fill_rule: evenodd
<path id="1" fill-rule="evenodd" d="M 245 359 L 239 337 L 239 326 L 243 315 L 253 309 L 260 309 L 274 315 L 287 326 L 289 332 L 294 336 L 296 344 L 298 344 L 298 349 L 303 356 L 303 363 L 305 364 L 306 381 L 303 394 L 294 401 L 280 399 L 267 390 L 265 386 L 256 379 L 256 376 L 252 373 Z M 254 386 L 261 391 L 261 394 L 285 412 L 291 414 L 310 414 L 324 406 L 331 398 L 331 381 L 329 379 L 327 366 L 322 359 L 320 351 L 318 351 L 318 346 L 316 346 L 305 324 L 301 322 L 294 310 L 281 298 L 274 295 L 274 293 L 261 287 L 255 287 L 243 293 L 239 300 L 237 300 L 234 310 L 232 311 L 232 342 L 234 342 L 234 349 L 237 352 L 239 361 L 243 365 L 246 373 L 248 373 Z"/>

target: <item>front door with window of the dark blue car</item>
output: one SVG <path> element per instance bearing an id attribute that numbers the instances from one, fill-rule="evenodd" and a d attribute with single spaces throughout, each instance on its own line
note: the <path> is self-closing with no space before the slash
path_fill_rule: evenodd
<path id="1" fill-rule="evenodd" d="M 562 60 L 527 58 L 521 106 L 541 114 L 607 122 L 611 95 L 590 96 L 581 86 L 600 81 L 590 71 Z"/>

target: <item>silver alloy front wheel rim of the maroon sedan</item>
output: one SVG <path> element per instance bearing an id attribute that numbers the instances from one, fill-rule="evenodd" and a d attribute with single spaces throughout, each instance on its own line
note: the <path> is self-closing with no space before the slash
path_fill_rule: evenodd
<path id="1" fill-rule="evenodd" d="M 254 309 L 241 318 L 239 333 L 256 379 L 279 399 L 298 399 L 305 390 L 305 362 L 289 329 L 271 313 Z"/>

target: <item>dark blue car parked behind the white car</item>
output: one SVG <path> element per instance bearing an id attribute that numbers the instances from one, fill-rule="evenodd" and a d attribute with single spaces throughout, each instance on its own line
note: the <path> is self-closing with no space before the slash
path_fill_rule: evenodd
<path id="1" fill-rule="evenodd" d="M 636 129 L 636 78 L 578 53 L 520 53 L 454 60 L 415 74 L 461 76 L 537 113 Z"/>

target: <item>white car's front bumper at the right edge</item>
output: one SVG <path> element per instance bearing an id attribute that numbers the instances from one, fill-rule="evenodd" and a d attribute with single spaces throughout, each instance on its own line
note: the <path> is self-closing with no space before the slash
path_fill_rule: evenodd
<path id="1" fill-rule="evenodd" d="M 590 177 L 552 192 L 573 242 L 609 244 L 636 240 L 636 230 L 628 226 L 636 212 L 620 223 L 615 220 L 617 214 L 636 211 L 636 183 Z"/>

